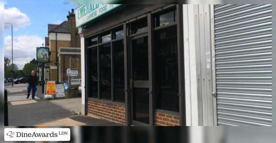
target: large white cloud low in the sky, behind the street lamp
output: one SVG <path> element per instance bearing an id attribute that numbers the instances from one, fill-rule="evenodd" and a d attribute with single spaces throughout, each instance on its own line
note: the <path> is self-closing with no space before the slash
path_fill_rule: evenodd
<path id="1" fill-rule="evenodd" d="M 33 58 L 36 59 L 36 47 L 41 47 L 44 39 L 37 35 L 20 35 L 13 37 L 13 63 L 22 69 Z M 4 38 L 4 55 L 11 60 L 11 36 Z"/>

